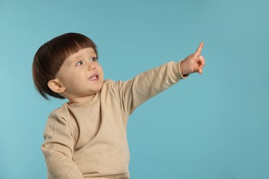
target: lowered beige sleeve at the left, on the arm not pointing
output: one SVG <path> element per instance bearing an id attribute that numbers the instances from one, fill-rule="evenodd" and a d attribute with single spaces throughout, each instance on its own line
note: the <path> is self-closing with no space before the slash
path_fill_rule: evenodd
<path id="1" fill-rule="evenodd" d="M 41 150 L 46 158 L 48 178 L 82 179 L 83 175 L 72 160 L 74 139 L 68 122 L 54 113 L 44 131 L 45 143 Z"/>

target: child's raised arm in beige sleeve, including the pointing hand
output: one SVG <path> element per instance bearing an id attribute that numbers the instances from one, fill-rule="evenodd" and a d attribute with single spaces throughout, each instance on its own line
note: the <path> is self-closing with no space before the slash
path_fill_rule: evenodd
<path id="1" fill-rule="evenodd" d="M 141 103 L 168 89 L 188 74 L 203 72 L 205 59 L 201 56 L 203 43 L 194 54 L 183 61 L 169 62 L 143 72 L 130 81 L 119 82 L 119 98 L 126 114 L 132 113 Z"/>

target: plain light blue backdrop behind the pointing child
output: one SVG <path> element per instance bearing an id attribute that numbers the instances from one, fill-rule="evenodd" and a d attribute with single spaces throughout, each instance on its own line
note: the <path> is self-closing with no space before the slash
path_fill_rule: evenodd
<path id="1" fill-rule="evenodd" d="M 0 1 L 0 178 L 46 178 L 43 128 L 64 101 L 32 84 L 40 45 L 66 32 L 126 80 L 194 52 L 206 67 L 128 124 L 131 178 L 269 178 L 269 1 Z"/>

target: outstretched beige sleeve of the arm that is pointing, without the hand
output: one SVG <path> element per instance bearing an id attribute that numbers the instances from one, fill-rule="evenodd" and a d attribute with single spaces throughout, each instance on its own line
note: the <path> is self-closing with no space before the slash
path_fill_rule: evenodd
<path id="1" fill-rule="evenodd" d="M 143 72 L 129 81 L 119 81 L 114 94 L 119 96 L 119 103 L 125 114 L 131 114 L 141 103 L 168 89 L 180 79 L 185 78 L 180 72 L 181 61 L 170 61 L 159 67 Z M 116 85 L 115 85 L 116 86 Z M 119 94 L 117 94 L 119 92 Z"/>

